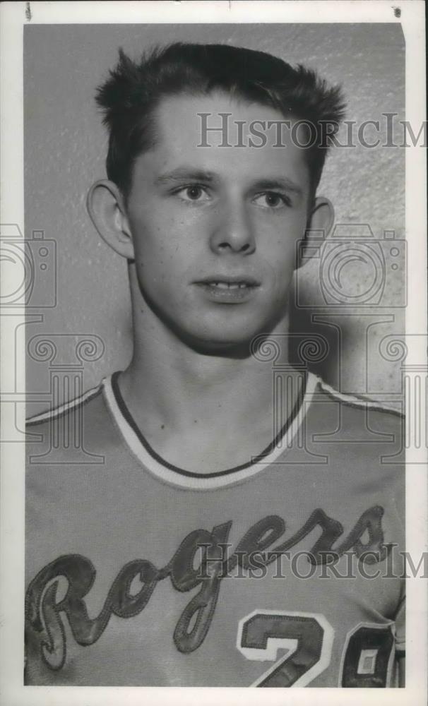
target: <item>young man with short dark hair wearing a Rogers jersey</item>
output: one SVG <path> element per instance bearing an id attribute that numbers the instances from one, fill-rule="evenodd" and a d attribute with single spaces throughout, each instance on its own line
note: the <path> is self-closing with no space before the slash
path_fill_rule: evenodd
<path id="1" fill-rule="evenodd" d="M 401 420 L 284 345 L 299 242 L 333 222 L 316 188 L 339 90 L 173 44 L 121 54 L 97 100 L 108 179 L 88 209 L 129 263 L 134 349 L 30 424 L 26 683 L 394 686 Z M 73 460 L 81 420 L 102 465 Z"/>

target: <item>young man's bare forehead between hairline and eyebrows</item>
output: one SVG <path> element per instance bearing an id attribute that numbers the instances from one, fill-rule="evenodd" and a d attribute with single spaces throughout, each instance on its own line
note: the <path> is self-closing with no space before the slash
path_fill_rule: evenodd
<path id="1" fill-rule="evenodd" d="M 302 189 L 309 184 L 305 150 L 280 126 L 285 118 L 273 107 L 220 92 L 177 95 L 162 99 L 153 118 L 155 145 L 138 157 L 138 171 L 191 164 L 239 181 L 288 177 Z"/>

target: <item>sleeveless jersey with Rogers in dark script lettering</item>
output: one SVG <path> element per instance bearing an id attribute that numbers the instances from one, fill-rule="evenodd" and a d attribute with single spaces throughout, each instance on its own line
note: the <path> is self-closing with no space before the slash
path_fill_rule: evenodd
<path id="1" fill-rule="evenodd" d="M 117 373 L 28 426 L 25 683 L 395 686 L 403 420 L 309 373 L 247 465 L 165 462 Z"/>

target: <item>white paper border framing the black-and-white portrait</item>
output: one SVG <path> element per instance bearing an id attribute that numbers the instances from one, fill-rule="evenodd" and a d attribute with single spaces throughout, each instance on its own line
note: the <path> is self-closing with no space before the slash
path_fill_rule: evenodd
<path id="1" fill-rule="evenodd" d="M 1 223 L 16 223 L 24 232 L 23 200 L 23 27 L 33 24 L 109 23 L 393 23 L 402 25 L 406 43 L 406 119 L 420 125 L 426 119 L 424 100 L 424 3 L 398 1 L 400 17 L 388 1 L 146 1 L 146 2 L 6 2 L 1 5 Z M 29 19 L 31 17 L 31 19 Z M 427 220 L 424 150 L 406 150 L 406 238 L 409 277 L 406 333 L 412 336 L 406 363 L 426 361 L 427 346 Z M 7 273 L 3 286 L 8 287 Z M 4 316 L 3 316 L 4 314 Z M 7 401 L 7 381 L 25 374 L 25 352 L 15 357 L 2 312 L 1 390 Z M 24 401 L 24 400 L 23 400 Z M 9 405 L 11 406 L 11 405 Z M 2 405 L 4 415 L 7 404 Z M 16 423 L 23 429 L 25 405 L 17 405 Z M 5 424 L 5 416 L 2 417 Z M 406 542 L 412 556 L 427 551 L 427 449 L 412 449 L 406 484 Z M 133 706 L 157 704 L 258 704 L 256 690 L 241 688 L 127 688 L 23 686 L 24 634 L 24 448 L 1 445 L 1 694 L 7 706 Z M 265 690 L 266 706 L 379 702 L 387 706 L 427 703 L 427 584 L 407 580 L 406 686 L 403 689 L 343 690 L 323 688 Z"/>

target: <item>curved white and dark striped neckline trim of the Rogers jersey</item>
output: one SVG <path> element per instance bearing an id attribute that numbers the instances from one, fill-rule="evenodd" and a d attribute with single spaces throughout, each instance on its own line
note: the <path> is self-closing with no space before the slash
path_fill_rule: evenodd
<path id="1" fill-rule="evenodd" d="M 290 417 L 261 454 L 253 457 L 250 462 L 239 466 L 210 474 L 194 473 L 174 466 L 163 459 L 148 443 L 147 439 L 138 429 L 126 403 L 121 395 L 118 385 L 119 372 L 105 378 L 103 391 L 107 407 L 116 421 L 121 435 L 126 441 L 134 456 L 156 477 L 173 485 L 192 489 L 208 489 L 229 486 L 254 476 L 262 469 L 266 469 L 280 455 L 286 453 L 295 438 L 307 409 L 311 403 L 319 379 L 313 373 L 305 373 L 302 387 L 297 395 L 297 402 L 292 409 Z"/>

